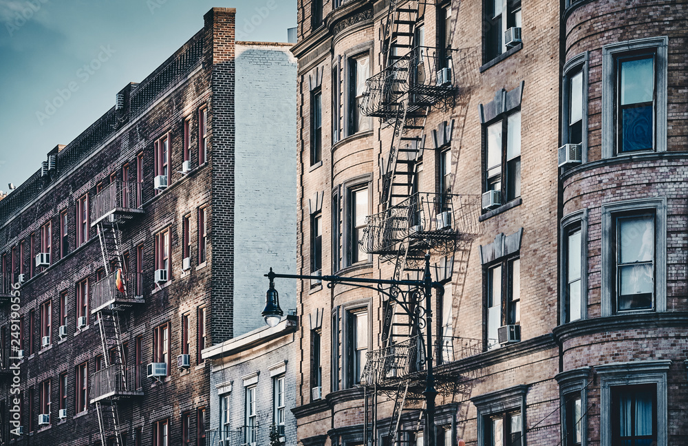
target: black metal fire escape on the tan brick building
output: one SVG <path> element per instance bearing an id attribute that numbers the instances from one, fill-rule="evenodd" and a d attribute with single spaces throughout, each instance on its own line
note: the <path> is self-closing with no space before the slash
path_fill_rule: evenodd
<path id="1" fill-rule="evenodd" d="M 380 160 L 383 211 L 367 217 L 361 242 L 368 253 L 394 265 L 392 279 L 418 279 L 426 253 L 451 258 L 454 263 L 467 262 L 471 241 L 479 229 L 479 196 L 425 193 L 414 187 L 425 145 L 427 117 L 433 108 L 452 109 L 458 92 L 451 78 L 455 73 L 453 58 L 440 58 L 435 48 L 421 45 L 418 24 L 425 6 L 422 1 L 389 1 L 383 25 L 385 68 L 366 81 L 361 103 L 364 114 L 380 118 L 383 125 L 389 124 L 394 131 L 389 152 Z M 455 253 L 459 254 L 456 262 Z M 463 274 L 465 270 L 464 265 L 460 266 Z M 424 401 L 422 311 L 432 304 L 423 302 L 422 293 L 414 290 L 389 291 L 392 297 L 383 301 L 383 348 L 367 354 L 361 379 L 365 387 L 367 445 L 378 445 L 380 396 L 385 397 L 384 401 L 394 401 L 391 418 L 386 421 L 387 434 L 382 436 L 389 445 L 401 445 L 409 439 L 410 433 L 402 429 L 402 412 L 409 403 L 417 405 Z M 455 338 L 445 339 L 443 346 L 436 345 L 435 352 L 441 355 L 447 342 L 452 360 L 482 349 L 480 341 Z M 461 377 L 444 378 L 445 382 L 438 385 L 440 392 L 464 391 L 465 381 Z M 410 430 L 418 429 L 420 418 Z"/>

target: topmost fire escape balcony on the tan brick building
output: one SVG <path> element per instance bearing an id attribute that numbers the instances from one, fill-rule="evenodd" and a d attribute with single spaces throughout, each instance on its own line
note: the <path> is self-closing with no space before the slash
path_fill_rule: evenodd
<path id="1" fill-rule="evenodd" d="M 405 94 L 411 94 L 411 106 L 434 105 L 453 96 L 452 74 L 451 58 L 441 58 L 434 47 L 414 47 L 365 81 L 361 111 L 366 116 L 392 118 Z"/>

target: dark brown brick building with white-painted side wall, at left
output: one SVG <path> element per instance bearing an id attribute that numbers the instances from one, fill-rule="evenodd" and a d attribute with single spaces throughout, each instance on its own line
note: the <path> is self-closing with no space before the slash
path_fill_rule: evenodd
<path id="1" fill-rule="evenodd" d="M 0 202 L 1 444 L 210 444 L 201 350 L 262 326 L 262 265 L 296 256 L 296 61 L 204 19 Z"/>

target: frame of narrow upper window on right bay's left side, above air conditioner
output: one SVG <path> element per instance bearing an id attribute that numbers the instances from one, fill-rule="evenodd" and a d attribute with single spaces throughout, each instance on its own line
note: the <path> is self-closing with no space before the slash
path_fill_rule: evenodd
<path id="1" fill-rule="evenodd" d="M 590 55 L 587 51 L 573 56 L 563 66 L 561 81 L 561 144 L 572 144 L 570 142 L 569 116 L 571 107 L 570 83 L 571 79 L 578 73 L 583 78 L 581 101 L 583 107 L 583 121 L 581 125 L 581 163 L 588 162 L 588 60 Z"/>

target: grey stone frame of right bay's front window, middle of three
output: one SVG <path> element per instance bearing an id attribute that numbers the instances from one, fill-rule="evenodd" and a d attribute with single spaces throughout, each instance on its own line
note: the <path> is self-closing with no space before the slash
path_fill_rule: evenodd
<path id="1" fill-rule="evenodd" d="M 655 244 L 654 244 L 654 302 L 652 309 L 622 310 L 614 308 L 616 268 L 613 244 L 616 242 L 616 224 L 619 215 L 643 215 L 654 213 Z M 647 198 L 638 200 L 624 200 L 621 202 L 602 204 L 602 262 L 601 262 L 601 316 L 608 317 L 617 314 L 634 312 L 665 312 L 667 310 L 667 198 Z M 612 268 L 612 265 L 614 268 Z M 613 281 L 613 282 L 612 282 Z"/>

